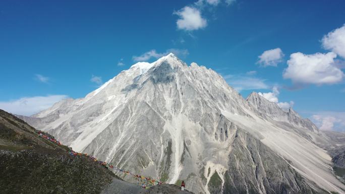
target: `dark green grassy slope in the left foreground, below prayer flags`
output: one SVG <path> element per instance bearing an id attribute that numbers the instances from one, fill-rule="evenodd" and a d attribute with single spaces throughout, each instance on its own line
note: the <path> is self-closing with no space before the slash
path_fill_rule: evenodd
<path id="1" fill-rule="evenodd" d="M 0 110 L 1 193 L 100 193 L 113 173 L 67 150 Z"/>

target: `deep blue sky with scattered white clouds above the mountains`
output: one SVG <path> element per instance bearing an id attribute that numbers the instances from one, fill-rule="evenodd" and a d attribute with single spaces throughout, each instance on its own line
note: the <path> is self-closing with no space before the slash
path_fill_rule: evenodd
<path id="1" fill-rule="evenodd" d="M 0 108 L 29 115 L 84 97 L 172 51 L 244 97 L 261 92 L 341 131 L 344 10 L 343 1 L 1 1 Z"/>

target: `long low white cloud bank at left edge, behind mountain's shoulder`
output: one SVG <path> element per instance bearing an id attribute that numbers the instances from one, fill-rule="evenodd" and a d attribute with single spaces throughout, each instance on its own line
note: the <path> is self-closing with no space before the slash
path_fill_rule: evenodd
<path id="1" fill-rule="evenodd" d="M 66 95 L 23 97 L 16 100 L 0 102 L 0 109 L 13 114 L 29 116 L 41 110 L 47 109 L 55 102 L 59 102 L 67 97 L 68 96 Z"/>

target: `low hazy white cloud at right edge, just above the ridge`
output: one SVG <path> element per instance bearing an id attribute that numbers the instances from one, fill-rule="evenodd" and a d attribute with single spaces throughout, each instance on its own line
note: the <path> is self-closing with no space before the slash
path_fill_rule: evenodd
<path id="1" fill-rule="evenodd" d="M 345 112 L 318 112 L 311 116 L 311 120 L 325 131 L 345 131 Z"/>

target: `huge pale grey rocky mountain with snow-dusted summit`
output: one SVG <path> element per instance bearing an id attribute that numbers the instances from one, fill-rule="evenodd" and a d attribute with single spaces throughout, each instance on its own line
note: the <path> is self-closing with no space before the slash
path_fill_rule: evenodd
<path id="1" fill-rule="evenodd" d="M 22 118 L 75 151 L 185 180 L 195 193 L 345 193 L 310 120 L 256 93 L 244 99 L 216 72 L 171 53 Z"/>

